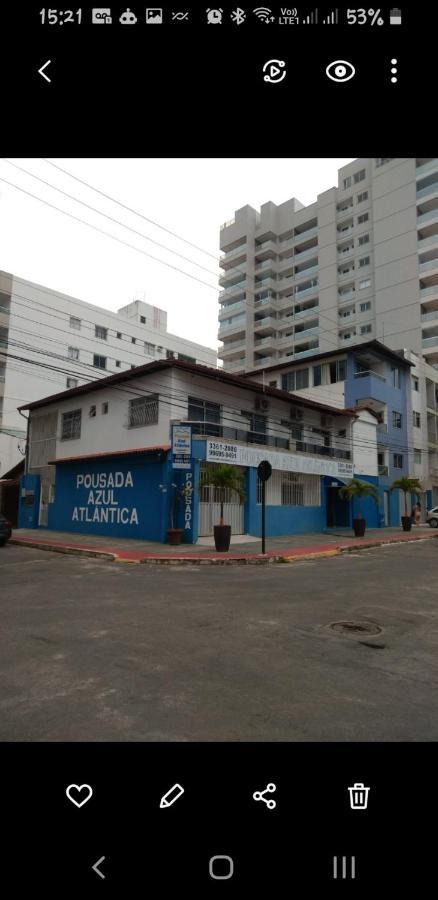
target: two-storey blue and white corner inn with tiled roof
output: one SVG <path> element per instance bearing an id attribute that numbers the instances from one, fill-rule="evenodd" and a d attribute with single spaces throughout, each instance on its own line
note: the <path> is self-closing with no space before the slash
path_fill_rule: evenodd
<path id="1" fill-rule="evenodd" d="M 351 408 L 336 391 L 331 404 L 304 396 L 300 387 L 291 393 L 290 372 L 279 373 L 280 386 L 266 386 L 179 360 L 160 360 L 29 404 L 20 525 L 165 541 L 173 521 L 186 541 L 196 542 L 218 522 L 219 497 L 209 476 L 226 462 L 241 473 L 245 500 L 226 497 L 225 521 L 235 534 L 260 535 L 257 466 L 267 459 L 273 469 L 267 535 L 349 526 L 357 510 L 341 499 L 341 487 L 353 475 L 375 484 L 390 478 L 389 461 L 388 475 L 379 476 L 377 457 L 376 404 L 383 395 L 377 396 L 375 384 L 381 392 L 386 381 L 361 359 L 371 374 L 351 362 L 350 377 L 350 360 L 345 366 L 334 360 L 338 388 L 344 376 L 344 388 L 351 384 L 362 395 L 356 403 L 348 394 Z M 312 360 L 308 369 L 318 365 Z M 405 368 L 401 362 L 401 384 Z M 387 389 L 404 396 L 402 388 Z M 398 399 L 385 396 L 387 404 Z M 385 449 L 392 452 L 389 444 Z M 370 527 L 383 523 L 384 491 L 381 508 L 370 501 L 364 514 Z"/>

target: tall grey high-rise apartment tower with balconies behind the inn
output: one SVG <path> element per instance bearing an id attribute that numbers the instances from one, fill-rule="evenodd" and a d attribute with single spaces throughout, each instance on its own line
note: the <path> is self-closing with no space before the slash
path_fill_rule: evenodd
<path id="1" fill-rule="evenodd" d="M 244 206 L 222 226 L 225 370 L 373 339 L 438 367 L 438 158 L 357 159 L 338 174 L 310 206 Z"/>

